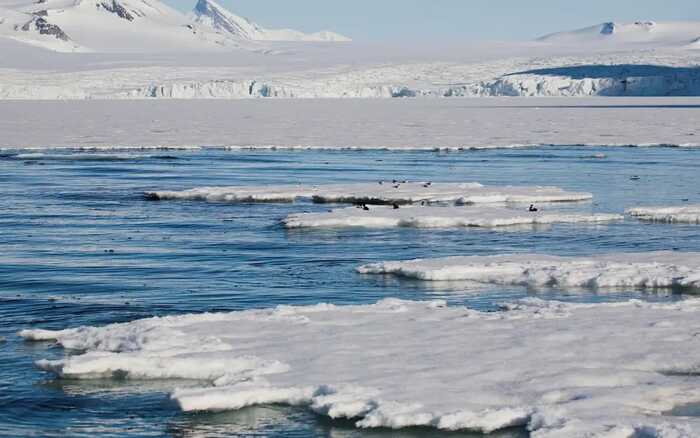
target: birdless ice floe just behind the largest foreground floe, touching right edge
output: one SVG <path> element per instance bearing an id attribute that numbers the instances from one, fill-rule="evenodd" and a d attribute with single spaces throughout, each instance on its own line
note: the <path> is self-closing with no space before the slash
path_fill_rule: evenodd
<path id="1" fill-rule="evenodd" d="M 502 285 L 698 289 L 700 253 L 464 256 L 374 263 L 359 267 L 358 272 Z"/>

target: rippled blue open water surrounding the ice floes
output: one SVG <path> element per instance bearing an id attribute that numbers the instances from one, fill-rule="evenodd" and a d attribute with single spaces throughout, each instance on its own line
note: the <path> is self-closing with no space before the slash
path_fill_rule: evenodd
<path id="1" fill-rule="evenodd" d="M 590 158 L 596 153 L 607 158 Z M 279 223 L 287 214 L 329 206 L 149 202 L 142 196 L 146 190 L 394 178 L 478 181 L 590 191 L 595 202 L 562 207 L 622 212 L 635 205 L 700 203 L 699 176 L 700 151 L 664 148 L 6 152 L 0 155 L 0 336 L 5 338 L 0 343 L 0 435 L 423 436 L 428 431 L 361 432 L 350 422 L 279 406 L 184 415 L 168 399 L 172 382 L 56 381 L 33 362 L 65 352 L 49 343 L 23 343 L 15 333 L 386 297 L 443 298 L 484 310 L 528 295 L 568 301 L 677 300 L 684 297 L 658 291 L 430 285 L 365 277 L 354 268 L 380 260 L 523 251 L 700 251 L 698 226 L 634 220 L 511 231 L 287 231 Z"/>

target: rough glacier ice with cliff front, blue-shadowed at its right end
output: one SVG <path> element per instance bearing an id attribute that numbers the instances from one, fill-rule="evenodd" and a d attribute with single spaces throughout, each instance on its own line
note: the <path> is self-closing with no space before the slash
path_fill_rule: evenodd
<path id="1" fill-rule="evenodd" d="M 262 50 L 262 49 L 261 49 Z M 535 53 L 546 51 L 532 49 Z M 308 49 L 322 56 L 320 49 Z M 700 52 L 512 57 L 489 61 L 341 64 L 299 68 L 292 52 L 274 69 L 249 66 L 159 67 L 69 72 L 0 68 L 2 99 L 311 99 L 451 97 L 698 96 Z M 507 56 L 505 52 L 504 55 Z M 359 55 L 362 56 L 362 55 Z M 389 58 L 391 59 L 391 57 Z M 252 61 L 252 60 L 251 60 Z M 349 59 L 347 60 L 349 61 Z M 142 61 L 141 61 L 142 62 Z M 212 61 L 213 62 L 213 61 Z M 221 62 L 221 61 L 217 61 Z"/>

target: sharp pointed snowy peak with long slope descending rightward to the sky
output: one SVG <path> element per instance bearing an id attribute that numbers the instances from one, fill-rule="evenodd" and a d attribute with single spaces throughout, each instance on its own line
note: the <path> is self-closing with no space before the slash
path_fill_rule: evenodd
<path id="1" fill-rule="evenodd" d="M 330 31 L 305 34 L 292 29 L 265 29 L 240 17 L 212 0 L 199 0 L 191 13 L 192 20 L 217 32 L 254 41 L 350 41 Z"/>

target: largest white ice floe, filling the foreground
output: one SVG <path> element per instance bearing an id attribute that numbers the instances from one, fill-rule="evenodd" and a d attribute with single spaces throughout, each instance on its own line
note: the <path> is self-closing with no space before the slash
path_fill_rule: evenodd
<path id="1" fill-rule="evenodd" d="M 667 414 L 700 402 L 698 332 L 700 300 L 482 313 L 388 299 L 20 335 L 84 351 L 38 362 L 60 377 L 207 381 L 173 393 L 184 411 L 284 403 L 363 428 L 575 438 L 698 436 L 700 418 Z"/>

